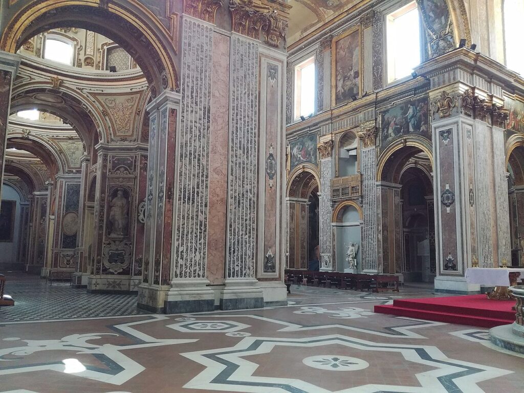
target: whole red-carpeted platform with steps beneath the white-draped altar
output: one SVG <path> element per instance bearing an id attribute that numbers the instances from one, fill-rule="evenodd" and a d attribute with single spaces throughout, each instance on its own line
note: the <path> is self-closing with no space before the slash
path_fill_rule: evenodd
<path id="1" fill-rule="evenodd" d="M 442 298 L 399 299 L 376 305 L 375 312 L 429 321 L 494 328 L 515 322 L 515 300 L 490 300 L 485 294 Z"/>

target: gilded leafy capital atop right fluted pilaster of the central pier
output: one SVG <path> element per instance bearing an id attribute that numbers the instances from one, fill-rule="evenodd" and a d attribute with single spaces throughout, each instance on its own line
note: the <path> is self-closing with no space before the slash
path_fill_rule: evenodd
<path id="1" fill-rule="evenodd" d="M 278 9 L 261 4 L 260 0 L 230 0 L 229 8 L 232 29 L 238 34 L 254 39 L 263 34 L 266 43 L 276 48 L 286 39 L 288 22 Z"/>

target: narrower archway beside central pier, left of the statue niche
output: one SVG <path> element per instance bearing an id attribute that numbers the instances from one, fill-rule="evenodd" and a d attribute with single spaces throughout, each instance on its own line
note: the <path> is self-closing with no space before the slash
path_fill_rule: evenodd
<path id="1" fill-rule="evenodd" d="M 319 177 L 315 167 L 311 167 L 293 170 L 289 177 L 287 266 L 290 269 L 319 269 Z"/>

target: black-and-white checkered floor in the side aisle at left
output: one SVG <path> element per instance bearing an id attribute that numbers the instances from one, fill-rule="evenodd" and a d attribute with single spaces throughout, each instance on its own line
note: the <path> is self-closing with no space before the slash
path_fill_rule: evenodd
<path id="1" fill-rule="evenodd" d="M 65 282 L 49 285 L 37 276 L 6 276 L 5 293 L 13 297 L 15 305 L 0 308 L 0 324 L 148 314 L 136 308 L 135 294 L 87 293 L 85 289 L 71 288 Z"/>

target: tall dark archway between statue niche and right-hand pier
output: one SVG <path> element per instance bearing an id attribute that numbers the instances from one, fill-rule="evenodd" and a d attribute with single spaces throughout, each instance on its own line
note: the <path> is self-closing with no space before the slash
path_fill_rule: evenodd
<path id="1" fill-rule="evenodd" d="M 429 146 L 402 139 L 378 161 L 378 270 L 408 281 L 436 274 L 435 224 Z M 432 251 L 431 251 L 432 250 Z"/>

